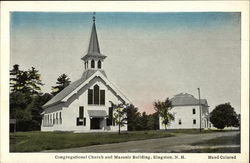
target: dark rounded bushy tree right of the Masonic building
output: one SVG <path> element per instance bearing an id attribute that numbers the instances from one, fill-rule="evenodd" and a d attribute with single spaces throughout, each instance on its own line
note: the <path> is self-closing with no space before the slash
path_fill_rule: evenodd
<path id="1" fill-rule="evenodd" d="M 214 127 L 239 127 L 239 118 L 230 103 L 220 104 L 210 114 L 210 121 Z"/>

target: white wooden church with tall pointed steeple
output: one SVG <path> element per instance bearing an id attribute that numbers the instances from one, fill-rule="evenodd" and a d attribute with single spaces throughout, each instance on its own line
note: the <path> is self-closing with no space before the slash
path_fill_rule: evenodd
<path id="1" fill-rule="evenodd" d="M 113 120 L 114 104 L 129 100 L 108 80 L 103 69 L 105 55 L 100 53 L 95 17 L 87 54 L 82 57 L 84 72 L 44 106 L 41 131 L 118 131 Z M 121 131 L 127 126 L 121 127 Z"/>

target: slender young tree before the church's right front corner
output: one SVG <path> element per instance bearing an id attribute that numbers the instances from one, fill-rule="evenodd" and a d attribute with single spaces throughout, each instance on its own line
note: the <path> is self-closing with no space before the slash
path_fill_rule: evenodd
<path id="1" fill-rule="evenodd" d="M 112 107 L 114 108 L 113 119 L 116 124 L 118 124 L 118 133 L 121 134 L 121 127 L 127 124 L 127 106 L 125 104 L 115 105 L 113 103 Z"/>

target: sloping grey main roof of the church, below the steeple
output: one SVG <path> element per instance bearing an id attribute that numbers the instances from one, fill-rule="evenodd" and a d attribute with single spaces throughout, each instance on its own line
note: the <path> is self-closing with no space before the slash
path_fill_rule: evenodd
<path id="1" fill-rule="evenodd" d="M 47 108 L 51 105 L 58 104 L 62 102 L 62 100 L 69 95 L 72 91 L 74 91 L 78 86 L 80 86 L 83 82 L 85 82 L 89 77 L 91 77 L 96 71 L 100 71 L 105 77 L 106 74 L 103 70 L 87 70 L 82 74 L 82 77 L 65 87 L 61 92 L 56 94 L 52 99 L 50 99 L 46 104 L 43 105 L 44 108 Z"/>

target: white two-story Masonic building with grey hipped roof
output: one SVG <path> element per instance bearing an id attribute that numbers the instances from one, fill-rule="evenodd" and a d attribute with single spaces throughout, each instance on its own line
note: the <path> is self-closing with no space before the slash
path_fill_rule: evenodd
<path id="1" fill-rule="evenodd" d="M 172 99 L 171 113 L 174 114 L 174 121 L 171 121 L 167 129 L 199 129 L 200 128 L 200 109 L 201 109 L 201 128 L 209 128 L 209 106 L 206 99 L 199 100 L 193 95 L 180 93 Z M 165 129 L 162 118 L 159 118 L 160 129 Z"/>

